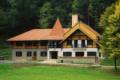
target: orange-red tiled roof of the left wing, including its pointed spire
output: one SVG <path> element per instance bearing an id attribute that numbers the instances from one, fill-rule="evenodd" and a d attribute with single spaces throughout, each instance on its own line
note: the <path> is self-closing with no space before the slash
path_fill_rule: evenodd
<path id="1" fill-rule="evenodd" d="M 62 28 L 59 19 L 57 19 L 53 29 L 33 29 L 10 38 L 8 41 L 63 40 L 63 35 L 68 30 Z"/>

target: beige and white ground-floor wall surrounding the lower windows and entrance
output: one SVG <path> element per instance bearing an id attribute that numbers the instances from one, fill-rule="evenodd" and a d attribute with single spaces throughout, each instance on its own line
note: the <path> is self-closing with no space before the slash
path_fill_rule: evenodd
<path id="1" fill-rule="evenodd" d="M 16 51 L 22 51 L 23 56 L 22 57 L 16 57 Z M 50 59 L 50 51 L 58 51 L 58 58 L 63 57 L 63 52 L 72 52 L 72 57 L 75 57 L 75 52 L 84 52 L 84 57 L 87 57 L 87 52 L 96 52 L 97 57 L 99 57 L 99 51 L 97 48 L 85 48 L 85 49 L 74 49 L 74 48 L 49 48 L 48 50 L 46 49 L 13 49 L 12 52 L 12 57 L 13 60 L 30 60 L 32 57 L 27 57 L 27 51 L 34 52 L 36 51 L 37 53 L 37 60 L 41 59 Z M 40 52 L 41 51 L 47 51 L 47 57 L 41 57 Z"/>

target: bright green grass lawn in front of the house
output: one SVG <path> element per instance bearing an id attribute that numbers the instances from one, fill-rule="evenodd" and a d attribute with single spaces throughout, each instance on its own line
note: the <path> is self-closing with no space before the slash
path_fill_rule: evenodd
<path id="1" fill-rule="evenodd" d="M 0 64 L 0 80 L 120 80 L 120 74 L 95 68 Z"/>

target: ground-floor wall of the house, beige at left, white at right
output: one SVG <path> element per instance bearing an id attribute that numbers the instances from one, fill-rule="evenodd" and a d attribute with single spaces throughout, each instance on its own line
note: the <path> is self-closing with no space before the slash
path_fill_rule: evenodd
<path id="1" fill-rule="evenodd" d="M 41 52 L 46 52 L 45 56 L 41 56 Z M 16 52 L 21 52 L 22 56 L 16 56 Z M 27 52 L 31 52 L 31 56 L 27 56 Z M 83 52 L 84 55 L 82 57 L 90 57 L 88 52 L 94 52 L 96 55 L 95 57 L 99 57 L 99 51 L 97 48 L 49 48 L 49 49 L 13 49 L 12 51 L 12 58 L 13 60 L 33 60 L 34 53 L 36 53 L 35 57 L 36 60 L 45 60 L 45 59 L 53 59 L 52 52 L 56 52 L 56 58 L 59 59 L 64 57 L 65 52 L 70 52 L 71 56 L 69 57 L 76 57 L 76 52 Z"/>

